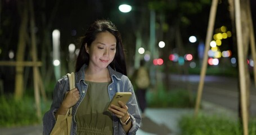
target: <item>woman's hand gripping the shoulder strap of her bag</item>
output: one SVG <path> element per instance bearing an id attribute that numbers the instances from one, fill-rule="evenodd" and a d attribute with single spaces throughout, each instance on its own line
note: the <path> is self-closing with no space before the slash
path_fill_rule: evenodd
<path id="1" fill-rule="evenodd" d="M 80 99 L 80 94 L 77 88 L 71 89 L 67 95 L 66 98 L 63 100 L 61 106 L 65 109 L 69 109 L 73 105 L 75 105 L 78 100 Z"/>

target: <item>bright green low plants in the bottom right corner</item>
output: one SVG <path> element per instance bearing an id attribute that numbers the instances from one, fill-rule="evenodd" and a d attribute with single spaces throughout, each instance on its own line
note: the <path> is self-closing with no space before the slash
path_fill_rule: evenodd
<path id="1" fill-rule="evenodd" d="M 218 134 L 218 135 L 240 135 L 242 127 L 237 120 L 229 119 L 228 116 L 221 115 L 203 115 L 197 118 L 191 115 L 184 115 L 179 121 L 182 135 L 199 135 L 199 134 Z M 249 123 L 249 134 L 256 133 L 256 120 Z"/>

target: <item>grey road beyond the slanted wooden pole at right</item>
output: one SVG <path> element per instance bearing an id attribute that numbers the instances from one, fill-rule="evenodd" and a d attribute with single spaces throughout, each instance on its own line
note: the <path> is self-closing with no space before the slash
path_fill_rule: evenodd
<path id="1" fill-rule="evenodd" d="M 200 75 L 171 74 L 169 79 L 172 88 L 186 88 L 191 89 L 195 94 L 197 93 Z M 239 83 L 237 78 L 206 75 L 202 100 L 237 111 L 239 104 Z M 254 84 L 251 84 L 250 89 L 250 115 L 256 116 L 256 89 Z"/>

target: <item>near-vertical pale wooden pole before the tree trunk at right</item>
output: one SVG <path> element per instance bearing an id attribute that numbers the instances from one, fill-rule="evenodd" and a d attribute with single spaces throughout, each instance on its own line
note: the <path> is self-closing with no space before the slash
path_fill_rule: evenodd
<path id="1" fill-rule="evenodd" d="M 235 22 L 236 22 L 236 37 L 237 37 L 237 52 L 239 63 L 240 77 L 240 93 L 241 93 L 241 109 L 242 109 L 242 125 L 244 135 L 248 135 L 248 110 L 246 104 L 246 80 L 245 80 L 245 57 L 242 44 L 242 27 L 241 27 L 241 8 L 240 1 L 235 0 Z"/>

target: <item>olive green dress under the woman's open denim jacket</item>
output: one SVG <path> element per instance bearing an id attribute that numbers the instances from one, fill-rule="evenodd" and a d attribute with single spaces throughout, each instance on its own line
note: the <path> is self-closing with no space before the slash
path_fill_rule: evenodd
<path id="1" fill-rule="evenodd" d="M 77 134 L 113 134 L 112 115 L 107 111 L 110 103 L 107 86 L 110 82 L 88 84 L 86 96 L 80 103 L 75 120 Z"/>

